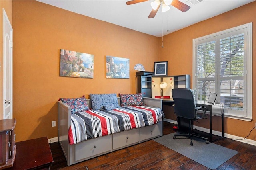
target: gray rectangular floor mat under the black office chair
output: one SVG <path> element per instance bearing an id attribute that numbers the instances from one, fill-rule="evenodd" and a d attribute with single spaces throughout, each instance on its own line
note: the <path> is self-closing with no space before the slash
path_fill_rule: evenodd
<path id="1" fill-rule="evenodd" d="M 190 139 L 186 137 L 177 137 L 177 139 L 173 139 L 172 137 L 174 134 L 176 133 L 158 137 L 154 139 L 154 141 L 210 169 L 218 168 L 238 153 L 236 150 L 228 149 L 214 143 L 206 144 L 205 141 L 196 138 L 192 138 L 194 145 L 190 146 Z"/>

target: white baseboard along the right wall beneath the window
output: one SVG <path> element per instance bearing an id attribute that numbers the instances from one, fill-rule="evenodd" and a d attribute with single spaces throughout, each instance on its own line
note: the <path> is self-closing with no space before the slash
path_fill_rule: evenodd
<path id="1" fill-rule="evenodd" d="M 174 120 L 171 120 L 171 119 L 166 119 L 164 118 L 164 121 L 167 121 L 169 123 L 174 123 L 176 121 Z M 204 128 L 204 127 L 199 127 L 199 126 L 193 126 L 195 129 L 199 130 L 199 131 L 203 131 L 203 132 L 206 132 L 206 133 L 210 133 L 210 129 L 207 129 L 207 128 Z M 218 135 L 218 136 L 222 136 L 222 133 L 219 132 L 219 131 L 212 131 L 212 134 L 213 135 Z M 229 138 L 229 139 L 232 139 L 232 140 L 235 140 L 235 141 L 239 141 L 239 142 L 242 142 L 242 143 L 248 143 L 250 145 L 254 145 L 256 146 L 256 141 L 252 140 L 252 139 L 243 139 L 243 137 L 239 137 L 239 136 L 235 136 L 235 135 L 230 135 L 228 133 L 224 133 L 224 137 L 226 138 Z M 241 140 L 243 139 L 243 140 Z"/>

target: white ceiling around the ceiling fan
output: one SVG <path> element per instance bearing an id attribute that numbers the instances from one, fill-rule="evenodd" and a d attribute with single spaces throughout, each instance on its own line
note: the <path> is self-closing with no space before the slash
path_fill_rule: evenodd
<path id="1" fill-rule="evenodd" d="M 150 2 L 126 5 L 128 0 L 37 0 L 78 14 L 120 25 L 142 33 L 161 37 L 200 21 L 212 18 L 255 0 L 203 0 L 198 4 L 180 0 L 191 8 L 181 12 L 170 5 L 168 12 L 159 8 L 154 18 L 148 18 Z M 104 29 L 104 28 L 102 28 Z M 167 31 L 169 30 L 169 31 Z"/>

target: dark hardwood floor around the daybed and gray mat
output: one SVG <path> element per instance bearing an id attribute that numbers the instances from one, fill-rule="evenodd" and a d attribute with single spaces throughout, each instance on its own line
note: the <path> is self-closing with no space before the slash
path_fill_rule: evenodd
<path id="1" fill-rule="evenodd" d="M 173 133 L 174 124 L 164 122 L 164 135 Z M 218 170 L 256 170 L 256 146 L 234 141 L 228 138 L 220 139 L 215 144 L 237 150 L 239 153 L 219 166 Z M 189 141 L 188 141 L 189 145 Z M 179 154 L 154 140 L 146 141 L 104 154 L 72 166 L 67 166 L 66 159 L 58 142 L 50 143 L 54 162 L 51 170 L 207 170 L 205 166 Z"/>

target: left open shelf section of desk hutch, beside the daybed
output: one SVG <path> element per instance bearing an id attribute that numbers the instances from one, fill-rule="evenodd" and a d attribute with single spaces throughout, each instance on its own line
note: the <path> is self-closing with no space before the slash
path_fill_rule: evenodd
<path id="1" fill-rule="evenodd" d="M 143 97 L 151 98 L 152 76 L 136 76 L 136 77 L 137 77 L 137 93 L 142 93 Z"/>

